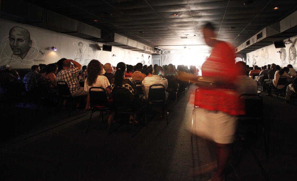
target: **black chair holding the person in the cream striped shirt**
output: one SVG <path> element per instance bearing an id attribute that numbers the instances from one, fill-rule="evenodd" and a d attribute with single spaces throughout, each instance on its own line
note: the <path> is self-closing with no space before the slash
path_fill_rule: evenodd
<path id="1" fill-rule="evenodd" d="M 165 87 L 161 84 L 155 84 L 149 86 L 149 95 L 146 106 L 160 106 L 162 108 L 162 116 L 164 117 L 164 111 L 166 111 L 166 123 L 168 125 L 167 106 L 168 99 L 165 97 Z M 146 119 L 146 117 L 145 117 Z M 147 120 L 147 119 L 146 119 Z M 145 121 L 147 123 L 147 121 Z"/>

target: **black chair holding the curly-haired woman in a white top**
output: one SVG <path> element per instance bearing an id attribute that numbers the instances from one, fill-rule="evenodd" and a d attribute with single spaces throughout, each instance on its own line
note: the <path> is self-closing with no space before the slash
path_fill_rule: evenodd
<path id="1" fill-rule="evenodd" d="M 100 111 L 100 114 L 102 116 L 102 123 L 103 123 L 103 112 L 110 111 L 107 95 L 103 87 L 91 87 L 89 89 L 89 96 L 90 96 L 91 114 L 90 114 L 90 120 L 89 120 L 86 133 L 88 133 L 91 120 L 92 120 L 92 114 L 94 112 Z"/>

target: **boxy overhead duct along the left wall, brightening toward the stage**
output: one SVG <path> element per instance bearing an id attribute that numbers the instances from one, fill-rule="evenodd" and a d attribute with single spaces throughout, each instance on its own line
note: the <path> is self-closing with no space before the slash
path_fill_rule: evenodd
<path id="1" fill-rule="evenodd" d="M 104 33 L 103 33 L 104 34 Z M 106 43 L 108 45 L 121 47 L 128 50 L 144 52 L 148 54 L 160 54 L 154 50 L 154 47 L 145 45 L 131 38 L 118 33 L 106 33 L 102 39 L 93 39 L 96 42 Z"/>

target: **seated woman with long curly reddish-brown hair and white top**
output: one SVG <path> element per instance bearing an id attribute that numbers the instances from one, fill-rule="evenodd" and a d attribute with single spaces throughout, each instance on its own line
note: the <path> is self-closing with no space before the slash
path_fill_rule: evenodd
<path id="1" fill-rule="evenodd" d="M 91 60 L 90 63 L 88 64 L 88 69 L 87 69 L 88 77 L 84 82 L 84 90 L 88 92 L 91 87 L 103 87 L 107 95 L 110 95 L 111 94 L 110 83 L 107 77 L 100 75 L 101 71 L 102 71 L 101 63 L 98 60 Z M 88 99 L 90 99 L 89 95 L 88 95 Z M 88 102 L 88 105 L 86 105 L 85 111 L 90 110 L 89 106 L 90 104 Z"/>

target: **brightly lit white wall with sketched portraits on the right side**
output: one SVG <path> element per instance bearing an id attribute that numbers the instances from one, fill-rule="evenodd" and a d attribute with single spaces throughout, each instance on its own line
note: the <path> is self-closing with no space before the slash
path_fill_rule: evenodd
<path id="1" fill-rule="evenodd" d="M 288 40 L 288 39 L 285 39 Z M 281 67 L 287 66 L 287 64 L 293 65 L 297 68 L 296 61 L 296 41 L 297 36 L 290 38 L 292 43 L 287 44 L 286 48 L 275 48 L 273 44 L 265 46 L 261 49 L 247 53 L 247 64 L 252 66 L 258 65 L 259 67 L 267 64 L 277 64 Z M 277 54 L 280 51 L 280 54 Z"/>

